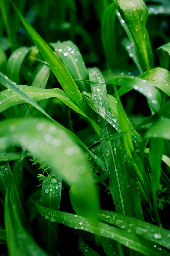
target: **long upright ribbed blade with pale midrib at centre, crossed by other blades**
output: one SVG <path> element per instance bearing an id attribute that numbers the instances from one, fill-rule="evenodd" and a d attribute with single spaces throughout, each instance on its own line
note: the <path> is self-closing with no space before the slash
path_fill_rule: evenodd
<path id="1" fill-rule="evenodd" d="M 90 77 L 90 80 L 93 82 L 98 82 L 99 84 L 100 82 L 105 83 L 100 70 L 98 70 L 97 68 L 89 69 L 89 77 Z M 115 129 L 110 124 L 108 124 L 104 119 L 106 118 L 106 116 L 108 116 L 107 114 L 111 112 L 108 95 L 106 92 L 106 86 L 101 84 L 98 86 L 91 86 L 91 88 L 92 88 L 92 96 L 93 96 L 93 101 L 91 100 L 91 102 L 93 103 L 98 102 L 98 105 L 101 106 L 101 109 L 102 109 L 102 115 L 101 116 L 99 115 L 100 133 L 101 133 L 100 136 L 101 138 L 103 138 L 103 137 L 113 135 L 115 134 Z M 88 101 L 89 100 L 90 99 L 88 99 Z M 103 107 L 107 109 L 107 114 L 106 112 L 103 111 Z M 116 127 L 117 119 L 115 120 L 116 122 L 114 122 L 111 119 L 113 125 L 115 125 Z M 122 155 L 121 155 L 119 143 L 120 143 L 119 139 L 114 138 L 114 139 L 109 139 L 108 141 L 102 140 L 101 146 L 102 146 L 107 170 L 109 173 L 108 177 L 110 182 L 110 189 L 111 189 L 112 197 L 116 207 L 116 211 L 121 212 L 122 214 L 127 214 L 131 216 L 133 212 L 133 207 L 130 207 L 130 205 L 132 206 L 132 202 L 130 202 L 130 196 L 128 196 L 129 205 L 127 204 L 127 201 L 124 198 L 125 191 L 126 191 L 126 194 L 128 194 L 129 191 L 126 184 L 127 174 L 126 174 L 124 164 L 122 162 Z"/>

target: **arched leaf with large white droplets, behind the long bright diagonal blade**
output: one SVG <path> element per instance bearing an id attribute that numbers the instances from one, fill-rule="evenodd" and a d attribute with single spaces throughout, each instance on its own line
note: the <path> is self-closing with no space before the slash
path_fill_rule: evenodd
<path id="1" fill-rule="evenodd" d="M 71 41 L 50 43 L 59 55 L 73 79 L 88 79 L 88 71 L 78 47 Z M 83 81 L 76 81 L 79 90 L 89 92 L 90 86 Z"/>

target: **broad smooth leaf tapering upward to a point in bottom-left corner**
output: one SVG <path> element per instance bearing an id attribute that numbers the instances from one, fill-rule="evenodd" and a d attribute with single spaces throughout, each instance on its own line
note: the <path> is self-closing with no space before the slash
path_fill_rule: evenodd
<path id="1" fill-rule="evenodd" d="M 11 179 L 9 180 L 5 198 L 4 215 L 7 247 L 11 256 L 47 256 L 47 254 L 35 243 L 30 230 L 25 227 L 25 224 L 28 223 L 28 221 L 23 212 L 14 181 L 12 180 L 11 183 Z"/>

